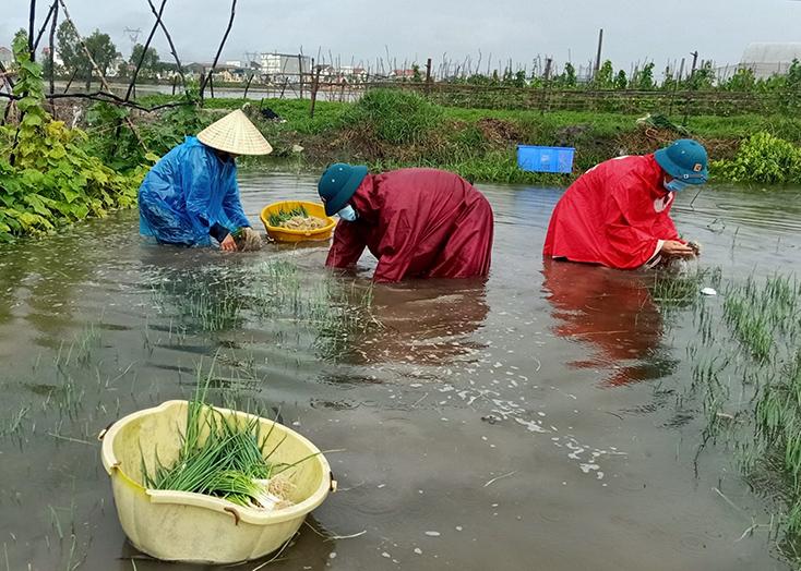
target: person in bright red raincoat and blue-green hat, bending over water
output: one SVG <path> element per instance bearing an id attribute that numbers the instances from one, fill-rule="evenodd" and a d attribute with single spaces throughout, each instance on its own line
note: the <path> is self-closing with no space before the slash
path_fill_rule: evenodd
<path id="1" fill-rule="evenodd" d="M 697 250 L 679 238 L 670 207 L 677 192 L 707 177 L 706 149 L 692 139 L 601 162 L 560 198 L 542 254 L 620 269 L 692 257 Z"/>

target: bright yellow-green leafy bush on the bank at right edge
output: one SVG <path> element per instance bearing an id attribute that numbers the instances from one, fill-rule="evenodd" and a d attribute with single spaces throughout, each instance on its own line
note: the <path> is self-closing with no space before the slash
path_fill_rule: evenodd
<path id="1" fill-rule="evenodd" d="M 746 139 L 732 160 L 716 161 L 713 169 L 733 182 L 797 182 L 801 179 L 801 148 L 761 132 Z"/>

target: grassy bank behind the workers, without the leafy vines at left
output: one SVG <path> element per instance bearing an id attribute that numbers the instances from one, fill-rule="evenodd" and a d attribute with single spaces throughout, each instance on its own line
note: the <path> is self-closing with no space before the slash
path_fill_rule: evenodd
<path id="1" fill-rule="evenodd" d="M 167 100 L 168 97 L 156 96 L 145 102 Z M 169 111 L 164 118 L 166 121 L 158 122 L 160 131 L 153 137 L 157 148 L 153 150 L 164 153 L 168 148 L 166 143 L 177 143 L 184 132 L 192 133 L 225 110 L 242 105 L 241 99 L 207 99 L 203 110 Z M 541 114 L 538 111 L 446 108 L 415 94 L 386 90 L 371 92 L 358 104 L 318 101 L 313 119 L 309 117 L 309 101 L 264 100 L 262 105 L 280 116 L 284 122 L 263 120 L 259 105 L 251 101 L 249 114 L 275 150 L 271 157 L 246 159 L 246 165 L 270 166 L 278 157 L 290 159 L 299 169 L 319 169 L 344 160 L 364 162 L 373 170 L 437 167 L 478 182 L 567 184 L 572 178 L 608 158 L 650 153 L 674 138 L 693 136 L 703 141 L 712 158 L 718 161 L 713 169 L 716 181 L 801 182 L 799 118 L 692 117 L 686 125 L 671 127 L 670 123 L 638 123 L 637 116 L 615 113 L 561 111 Z M 147 122 L 147 118 L 143 117 L 143 121 Z M 150 122 L 153 124 L 152 119 Z M 104 126 L 103 121 L 93 125 L 97 130 Z M 172 136 L 164 136 L 165 130 Z M 743 162 L 739 150 L 742 143 L 755 134 L 762 134 L 763 138 L 751 146 Z M 765 135 L 770 137 L 765 138 Z M 515 155 L 517 144 L 575 147 L 573 175 L 519 170 Z M 297 151 L 297 146 L 303 150 Z M 740 168 L 736 169 L 733 161 L 738 158 Z M 776 167 L 770 172 L 752 167 L 752 163 L 766 162 L 776 163 Z M 751 171 L 754 171 L 753 177 Z"/>

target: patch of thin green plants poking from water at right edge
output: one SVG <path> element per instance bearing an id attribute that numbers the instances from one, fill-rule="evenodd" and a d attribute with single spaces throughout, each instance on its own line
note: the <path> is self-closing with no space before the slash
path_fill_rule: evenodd
<path id="1" fill-rule="evenodd" d="M 728 437 L 743 471 L 786 501 L 781 547 L 801 560 L 801 283 L 751 276 L 730 284 L 721 305 L 701 304 L 694 321 L 690 394 L 706 418 L 703 442 Z M 728 335 L 715 335 L 717 323 Z"/>

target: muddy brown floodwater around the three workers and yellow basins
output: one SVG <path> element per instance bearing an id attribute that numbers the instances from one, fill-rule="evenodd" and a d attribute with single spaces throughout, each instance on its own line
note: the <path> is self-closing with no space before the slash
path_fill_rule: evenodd
<path id="1" fill-rule="evenodd" d="M 243 173 L 246 210 L 314 182 Z M 325 245 L 158 247 L 135 211 L 0 246 L 0 570 L 190 569 L 127 545 L 95 437 L 186 398 L 215 355 L 215 398 L 345 449 L 339 491 L 270 569 L 787 569 L 766 532 L 743 535 L 769 506 L 731 452 L 708 446 L 696 475 L 704 420 L 670 397 L 689 317 L 660 311 L 649 274 L 543 267 L 561 190 L 480 187 L 486 282 L 370 292 L 374 260 L 335 276 Z M 691 199 L 674 218 L 722 281 L 798 267 L 798 191 Z"/>

